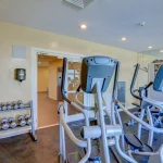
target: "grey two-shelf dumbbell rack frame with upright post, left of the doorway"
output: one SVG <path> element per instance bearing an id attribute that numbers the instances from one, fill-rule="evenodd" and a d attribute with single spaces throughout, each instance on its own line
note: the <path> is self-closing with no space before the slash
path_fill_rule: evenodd
<path id="1" fill-rule="evenodd" d="M 5 112 L 16 112 L 16 111 L 22 111 L 22 110 L 30 110 L 30 116 L 32 116 L 32 125 L 25 125 L 24 127 L 21 127 L 21 126 L 16 126 L 15 128 L 9 128 L 8 130 L 14 130 L 16 128 L 27 128 L 27 127 L 32 127 L 32 130 L 30 130 L 30 136 L 32 136 L 32 139 L 34 141 L 37 141 L 37 136 L 36 136 L 36 131 L 35 131 L 35 120 L 34 120 L 34 109 L 33 109 L 33 101 L 28 102 L 27 104 L 24 105 L 24 108 L 22 109 L 11 109 L 11 110 L 5 110 L 5 111 L 0 111 L 0 113 L 5 113 Z M 4 133 L 7 130 L 3 130 L 3 129 L 0 129 L 0 133 Z"/>

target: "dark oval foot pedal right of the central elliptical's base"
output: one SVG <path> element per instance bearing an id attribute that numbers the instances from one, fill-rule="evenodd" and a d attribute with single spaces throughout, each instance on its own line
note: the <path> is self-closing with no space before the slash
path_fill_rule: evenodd
<path id="1" fill-rule="evenodd" d="M 142 150 L 143 148 L 143 143 L 134 134 L 126 134 L 125 140 L 127 145 L 134 148 L 134 150 Z"/>

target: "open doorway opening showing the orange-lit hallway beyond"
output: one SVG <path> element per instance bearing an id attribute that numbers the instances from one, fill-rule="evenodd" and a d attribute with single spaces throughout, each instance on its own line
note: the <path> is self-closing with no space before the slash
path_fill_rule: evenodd
<path id="1" fill-rule="evenodd" d="M 62 102 L 61 76 L 63 59 L 38 54 L 37 103 L 38 128 L 59 123 L 58 104 Z"/>

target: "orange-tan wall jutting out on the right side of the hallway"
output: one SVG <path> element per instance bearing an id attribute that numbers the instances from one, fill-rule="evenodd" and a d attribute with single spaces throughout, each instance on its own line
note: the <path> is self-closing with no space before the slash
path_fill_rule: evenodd
<path id="1" fill-rule="evenodd" d="M 62 67 L 63 60 L 49 62 L 49 98 L 58 100 L 58 67 Z"/>

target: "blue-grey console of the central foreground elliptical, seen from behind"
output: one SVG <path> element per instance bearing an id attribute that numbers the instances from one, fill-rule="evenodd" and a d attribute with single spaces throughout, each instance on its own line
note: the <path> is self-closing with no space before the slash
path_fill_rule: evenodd
<path id="1" fill-rule="evenodd" d="M 93 93 L 92 86 L 101 80 L 104 92 L 112 79 L 117 61 L 106 57 L 85 58 L 82 63 L 80 86 L 83 91 Z"/>

